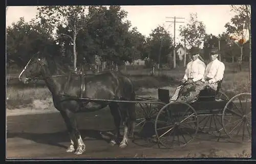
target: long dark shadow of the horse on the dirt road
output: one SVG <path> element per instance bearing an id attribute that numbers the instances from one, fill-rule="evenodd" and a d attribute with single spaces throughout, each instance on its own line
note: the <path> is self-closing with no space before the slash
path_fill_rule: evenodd
<path id="1" fill-rule="evenodd" d="M 105 142 L 109 143 L 111 138 L 113 137 L 112 131 L 99 131 L 99 130 L 92 130 L 92 129 L 81 129 L 80 134 L 85 141 L 86 140 L 105 140 Z M 55 133 L 27 133 L 27 132 L 20 132 L 20 133 L 7 133 L 7 138 L 24 138 L 28 140 L 32 140 L 33 142 L 39 144 L 46 144 L 57 146 L 61 148 L 67 148 L 59 143 L 63 142 L 70 142 L 69 134 L 67 131 L 55 132 Z"/>

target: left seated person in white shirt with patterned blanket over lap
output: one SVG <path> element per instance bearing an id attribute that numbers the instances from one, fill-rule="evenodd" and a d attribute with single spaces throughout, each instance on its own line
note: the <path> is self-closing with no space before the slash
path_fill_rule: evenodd
<path id="1" fill-rule="evenodd" d="M 193 51 L 194 49 L 191 50 Z M 185 75 L 181 80 L 181 83 L 183 85 L 185 84 L 185 86 L 182 88 L 180 93 L 175 93 L 170 101 L 193 101 L 200 92 L 200 86 L 204 85 L 202 78 L 204 77 L 205 73 L 205 64 L 198 58 L 198 51 L 194 50 L 191 52 L 191 54 L 192 61 L 187 64 Z M 180 95 L 179 98 L 178 95 Z"/>

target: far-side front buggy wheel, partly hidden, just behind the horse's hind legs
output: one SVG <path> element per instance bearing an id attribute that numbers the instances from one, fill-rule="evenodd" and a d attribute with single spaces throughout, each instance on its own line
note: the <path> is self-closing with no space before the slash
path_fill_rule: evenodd
<path id="1" fill-rule="evenodd" d="M 136 110 L 135 134 L 142 138 L 140 145 L 151 147 L 156 144 L 154 123 L 157 113 L 165 105 L 163 103 L 138 103 L 139 109 Z M 136 139 L 138 142 L 138 139 Z M 134 139 L 135 141 L 135 139 Z M 143 142 L 143 143 L 141 143 Z"/>

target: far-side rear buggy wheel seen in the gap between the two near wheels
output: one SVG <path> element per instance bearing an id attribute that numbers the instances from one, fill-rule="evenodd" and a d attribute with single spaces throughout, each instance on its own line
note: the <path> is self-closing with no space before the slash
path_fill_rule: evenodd
<path id="1" fill-rule="evenodd" d="M 230 99 L 223 91 L 220 90 L 218 95 L 216 95 L 216 100 L 228 101 Z M 200 132 L 204 132 L 209 135 L 214 135 L 218 137 L 226 135 L 222 126 L 222 113 L 205 114 L 205 115 L 200 114 L 198 116 L 199 118 L 200 116 L 203 116 L 202 119 L 199 119 Z"/>

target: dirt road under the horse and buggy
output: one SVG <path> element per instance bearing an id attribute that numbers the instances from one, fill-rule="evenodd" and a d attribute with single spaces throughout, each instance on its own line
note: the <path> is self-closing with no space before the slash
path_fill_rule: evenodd
<path id="1" fill-rule="evenodd" d="M 81 135 L 87 150 L 82 155 L 66 153 L 69 137 L 59 113 L 11 115 L 7 117 L 7 158 L 119 158 L 119 157 L 185 157 L 190 154 L 217 154 L 234 157 L 246 150 L 251 153 L 251 143 L 230 143 L 224 139 L 207 136 L 195 139 L 185 148 L 164 149 L 143 146 L 141 139 L 130 141 L 125 149 L 109 144 L 109 133 L 114 129 L 108 110 L 77 114 Z M 102 132 L 102 134 L 100 134 Z"/>

